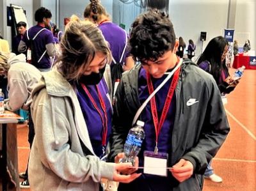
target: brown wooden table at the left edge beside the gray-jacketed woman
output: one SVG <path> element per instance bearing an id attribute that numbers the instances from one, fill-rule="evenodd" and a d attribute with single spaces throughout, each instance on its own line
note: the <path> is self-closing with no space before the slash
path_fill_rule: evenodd
<path id="1" fill-rule="evenodd" d="M 0 191 L 20 190 L 17 157 L 19 116 L 12 112 L 5 113 L 9 116 L 0 115 Z M 10 114 L 13 114 L 13 117 Z"/>

